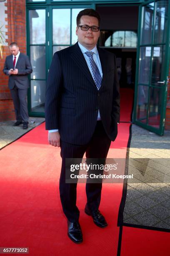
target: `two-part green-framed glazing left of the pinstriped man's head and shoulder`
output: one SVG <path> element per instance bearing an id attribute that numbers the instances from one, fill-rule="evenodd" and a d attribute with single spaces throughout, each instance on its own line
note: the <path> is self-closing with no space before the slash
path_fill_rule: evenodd
<path id="1" fill-rule="evenodd" d="M 45 115 L 45 88 L 52 56 L 77 42 L 77 14 L 92 4 L 31 5 L 27 9 L 27 52 L 33 72 L 28 90 L 29 115 Z"/>

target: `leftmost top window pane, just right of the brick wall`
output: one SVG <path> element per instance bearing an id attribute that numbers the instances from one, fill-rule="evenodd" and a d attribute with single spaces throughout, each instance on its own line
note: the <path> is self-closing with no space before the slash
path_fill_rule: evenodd
<path id="1" fill-rule="evenodd" d="M 29 10 L 30 44 L 45 44 L 45 10 Z"/>

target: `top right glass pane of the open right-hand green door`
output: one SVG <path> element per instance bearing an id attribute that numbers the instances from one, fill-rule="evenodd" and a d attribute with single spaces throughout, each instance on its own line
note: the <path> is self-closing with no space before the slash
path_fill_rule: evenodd
<path id="1" fill-rule="evenodd" d="M 168 0 L 158 1 L 156 5 L 154 43 L 166 42 L 168 25 Z"/>

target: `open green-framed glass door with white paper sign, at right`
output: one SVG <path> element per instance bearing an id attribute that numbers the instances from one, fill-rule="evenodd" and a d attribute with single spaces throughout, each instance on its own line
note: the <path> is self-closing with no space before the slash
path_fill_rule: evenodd
<path id="1" fill-rule="evenodd" d="M 163 135 L 168 80 L 168 0 L 140 6 L 134 123 Z"/>

